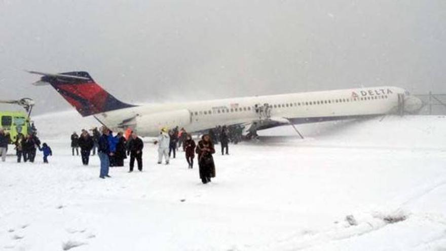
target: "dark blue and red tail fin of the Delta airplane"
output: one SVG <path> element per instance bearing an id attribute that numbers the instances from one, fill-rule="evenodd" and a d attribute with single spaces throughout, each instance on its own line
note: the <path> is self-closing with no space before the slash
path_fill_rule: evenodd
<path id="1" fill-rule="evenodd" d="M 61 74 L 28 72 L 43 75 L 34 85 L 51 85 L 68 103 L 75 106 L 83 117 L 134 106 L 121 102 L 102 89 L 86 71 Z"/>

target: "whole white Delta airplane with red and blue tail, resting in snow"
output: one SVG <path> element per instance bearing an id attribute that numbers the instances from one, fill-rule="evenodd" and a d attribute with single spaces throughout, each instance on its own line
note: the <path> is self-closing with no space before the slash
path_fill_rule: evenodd
<path id="1" fill-rule="evenodd" d="M 42 75 L 33 84 L 51 85 L 83 117 L 93 116 L 112 130 L 131 128 L 140 136 L 176 126 L 205 132 L 217 125 L 242 125 L 245 134 L 256 134 L 283 125 L 417 113 L 423 107 L 421 99 L 393 86 L 136 105 L 118 100 L 86 71 L 28 72 Z"/>

